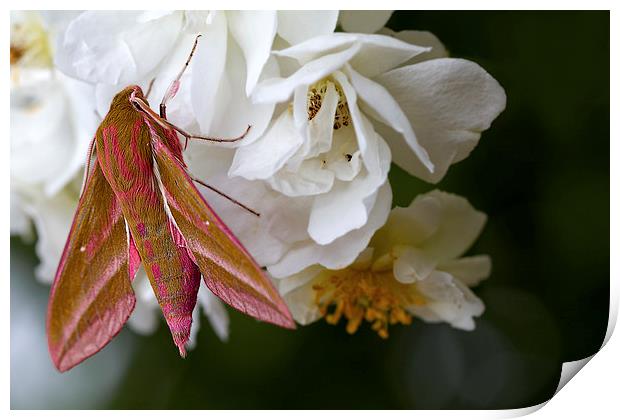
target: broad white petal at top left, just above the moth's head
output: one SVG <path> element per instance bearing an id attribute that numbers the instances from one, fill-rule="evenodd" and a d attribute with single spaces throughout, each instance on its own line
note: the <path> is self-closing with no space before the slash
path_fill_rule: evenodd
<path id="1" fill-rule="evenodd" d="M 59 40 L 56 64 L 90 83 L 128 84 L 153 70 L 174 45 L 183 16 L 140 21 L 142 12 L 84 12 Z M 156 48 L 154 48 L 156 46 Z"/>

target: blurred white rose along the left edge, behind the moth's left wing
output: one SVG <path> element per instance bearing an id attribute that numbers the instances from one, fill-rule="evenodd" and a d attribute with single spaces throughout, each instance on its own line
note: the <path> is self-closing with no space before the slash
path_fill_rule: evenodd
<path id="1" fill-rule="evenodd" d="M 97 127 L 93 89 L 51 68 L 53 38 L 72 13 L 11 16 L 11 233 L 36 228 L 39 280 L 53 280 Z M 77 180 L 77 181 L 76 181 Z"/>

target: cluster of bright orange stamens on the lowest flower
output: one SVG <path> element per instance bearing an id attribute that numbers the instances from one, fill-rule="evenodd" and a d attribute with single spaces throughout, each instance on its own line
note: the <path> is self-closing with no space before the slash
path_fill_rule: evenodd
<path id="1" fill-rule="evenodd" d="M 415 286 L 397 281 L 392 270 L 328 271 L 312 288 L 325 321 L 336 325 L 344 316 L 349 334 L 355 333 L 365 320 L 381 338 L 387 338 L 389 325 L 411 324 L 405 308 L 425 303 Z"/>

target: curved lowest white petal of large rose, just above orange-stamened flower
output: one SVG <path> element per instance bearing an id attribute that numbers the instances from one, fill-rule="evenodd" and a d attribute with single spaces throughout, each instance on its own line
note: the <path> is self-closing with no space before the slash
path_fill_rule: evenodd
<path id="1" fill-rule="evenodd" d="M 365 225 L 328 245 L 319 245 L 311 240 L 298 241 L 289 248 L 280 261 L 268 267 L 269 272 L 276 278 L 282 278 L 314 264 L 334 270 L 348 266 L 366 248 L 373 233 L 385 223 L 391 203 L 392 190 L 390 184 L 386 182 L 378 191 L 375 205 Z"/>

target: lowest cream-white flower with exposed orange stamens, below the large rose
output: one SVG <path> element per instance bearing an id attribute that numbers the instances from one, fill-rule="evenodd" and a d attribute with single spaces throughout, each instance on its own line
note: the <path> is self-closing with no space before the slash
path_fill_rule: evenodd
<path id="1" fill-rule="evenodd" d="M 438 190 L 391 211 L 356 262 L 340 270 L 312 266 L 279 282 L 295 319 L 344 317 L 353 333 L 366 320 L 382 337 L 416 316 L 471 330 L 484 304 L 469 289 L 488 277 L 486 255 L 463 257 L 486 216 L 462 197 Z"/>

